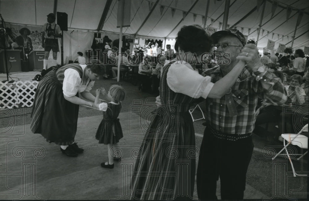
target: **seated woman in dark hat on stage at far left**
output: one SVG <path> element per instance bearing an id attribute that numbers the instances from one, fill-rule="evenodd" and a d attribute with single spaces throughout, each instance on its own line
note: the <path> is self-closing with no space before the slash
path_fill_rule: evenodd
<path id="1" fill-rule="evenodd" d="M 19 30 L 20 36 L 16 37 L 16 44 L 18 47 L 16 49 L 23 50 L 21 52 L 21 59 L 26 60 L 27 57 L 25 54 L 29 54 L 32 51 L 32 41 L 31 38 L 28 37 L 30 35 L 30 30 L 26 27 L 23 27 Z"/>

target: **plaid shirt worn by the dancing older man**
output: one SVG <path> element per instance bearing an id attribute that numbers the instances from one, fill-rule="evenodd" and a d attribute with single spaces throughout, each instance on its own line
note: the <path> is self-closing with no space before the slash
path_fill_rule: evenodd
<path id="1" fill-rule="evenodd" d="M 256 73 L 258 74 L 258 73 Z M 211 76 L 211 82 L 222 78 L 220 67 L 207 69 L 203 76 Z M 256 120 L 255 108 L 258 95 L 264 95 L 273 105 L 283 105 L 287 99 L 286 90 L 273 73 L 265 71 L 264 75 L 255 75 L 248 67 L 237 78 L 231 88 L 232 97 L 237 109 L 237 115 L 230 116 L 225 103 L 225 96 L 220 99 L 206 98 L 206 122 L 222 133 L 247 134 L 252 133 Z"/>

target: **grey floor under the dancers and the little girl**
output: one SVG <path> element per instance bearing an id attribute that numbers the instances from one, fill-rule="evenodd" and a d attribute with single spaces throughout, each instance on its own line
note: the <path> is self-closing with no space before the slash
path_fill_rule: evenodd
<path id="1" fill-rule="evenodd" d="M 47 143 L 42 136 L 30 131 L 31 108 L 0 110 L 1 200 L 128 199 L 131 173 L 129 169 L 124 169 L 133 163 L 131 151 L 140 146 L 136 138 L 143 137 L 132 135 L 140 130 L 141 124 L 140 116 L 130 113 L 130 106 L 134 100 L 145 100 L 152 95 L 142 93 L 137 86 L 128 82 L 114 80 L 96 81 L 91 92 L 102 86 L 109 88 L 112 84 L 121 84 L 127 91 L 119 115 L 124 132 L 124 138 L 119 143 L 123 160 L 115 162 L 114 169 L 100 167 L 101 162 L 107 161 L 107 146 L 95 140 L 95 132 L 102 118 L 100 111 L 80 107 L 76 142 L 85 152 L 71 158 L 62 154 L 59 146 Z M 194 116 L 198 115 L 194 113 Z M 193 123 L 198 148 L 205 128 L 202 123 L 203 120 Z M 255 148 L 248 168 L 244 198 L 306 199 L 307 177 L 292 177 L 290 163 L 285 158 L 279 157 L 278 161 L 273 162 L 263 151 L 266 142 L 256 135 L 253 135 L 253 142 Z M 282 148 L 281 144 L 273 144 L 269 148 L 278 151 Z M 299 149 L 297 151 L 300 152 Z M 307 170 L 306 157 L 302 161 L 295 158 L 292 161 L 297 171 Z M 278 164 L 283 168 L 281 173 L 276 173 L 274 168 Z M 280 175 L 283 177 L 277 177 Z M 220 199 L 220 181 L 217 182 L 217 195 Z M 197 199 L 196 186 L 194 198 Z"/>

